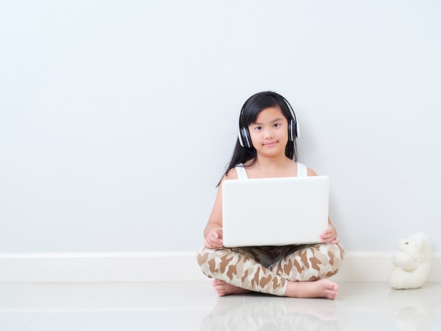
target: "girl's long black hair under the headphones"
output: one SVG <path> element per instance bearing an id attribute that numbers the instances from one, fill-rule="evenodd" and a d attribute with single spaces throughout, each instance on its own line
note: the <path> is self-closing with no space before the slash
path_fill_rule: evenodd
<path id="1" fill-rule="evenodd" d="M 295 120 L 295 118 L 292 118 L 288 101 L 278 93 L 266 91 L 256 93 L 251 96 L 247 101 L 245 101 L 244 105 L 242 106 L 242 110 L 240 111 L 239 127 L 248 127 L 248 125 L 256 121 L 257 116 L 261 111 L 263 111 L 263 109 L 277 106 L 282 111 L 288 123 L 290 122 L 290 120 Z M 285 155 L 287 156 L 287 158 L 291 158 L 292 160 L 297 161 L 297 146 L 295 142 L 295 137 L 294 142 L 287 142 L 285 147 Z M 247 161 L 250 161 L 253 158 L 255 160 L 256 156 L 257 151 L 254 146 L 251 146 L 251 148 L 242 147 L 239 142 L 239 137 L 237 137 L 236 146 L 234 151 L 232 152 L 231 161 L 228 164 L 224 175 L 226 175 L 228 171 L 230 171 L 232 168 L 235 168 L 235 166 L 240 163 L 247 163 Z M 252 165 L 252 163 L 250 165 Z M 218 185 L 219 184 L 221 184 L 221 181 L 218 183 Z"/>

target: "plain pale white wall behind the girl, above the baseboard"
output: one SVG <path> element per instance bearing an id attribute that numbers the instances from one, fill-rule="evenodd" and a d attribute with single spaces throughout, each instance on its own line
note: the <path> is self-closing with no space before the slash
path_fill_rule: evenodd
<path id="1" fill-rule="evenodd" d="M 280 92 L 347 251 L 441 251 L 438 1 L 3 1 L 0 251 L 192 251 Z"/>

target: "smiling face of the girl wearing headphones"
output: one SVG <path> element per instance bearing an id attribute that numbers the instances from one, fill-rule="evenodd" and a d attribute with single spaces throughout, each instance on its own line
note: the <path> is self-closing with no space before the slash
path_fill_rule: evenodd
<path id="1" fill-rule="evenodd" d="M 285 155 L 288 142 L 288 121 L 278 106 L 263 109 L 256 122 L 248 126 L 251 142 L 258 154 Z"/>

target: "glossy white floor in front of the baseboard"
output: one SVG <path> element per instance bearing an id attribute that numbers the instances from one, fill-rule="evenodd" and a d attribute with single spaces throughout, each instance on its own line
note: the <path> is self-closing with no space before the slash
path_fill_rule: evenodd
<path id="1" fill-rule="evenodd" d="M 337 300 L 247 294 L 211 282 L 0 284 L 0 330 L 441 330 L 441 283 L 340 283 Z"/>

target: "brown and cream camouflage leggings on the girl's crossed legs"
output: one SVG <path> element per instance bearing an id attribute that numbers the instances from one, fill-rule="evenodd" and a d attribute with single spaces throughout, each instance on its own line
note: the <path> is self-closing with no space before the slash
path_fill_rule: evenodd
<path id="1" fill-rule="evenodd" d="M 309 281 L 338 273 L 344 258 L 340 244 L 259 246 L 208 249 L 197 262 L 211 278 L 249 289 L 284 296 L 287 281 Z"/>

